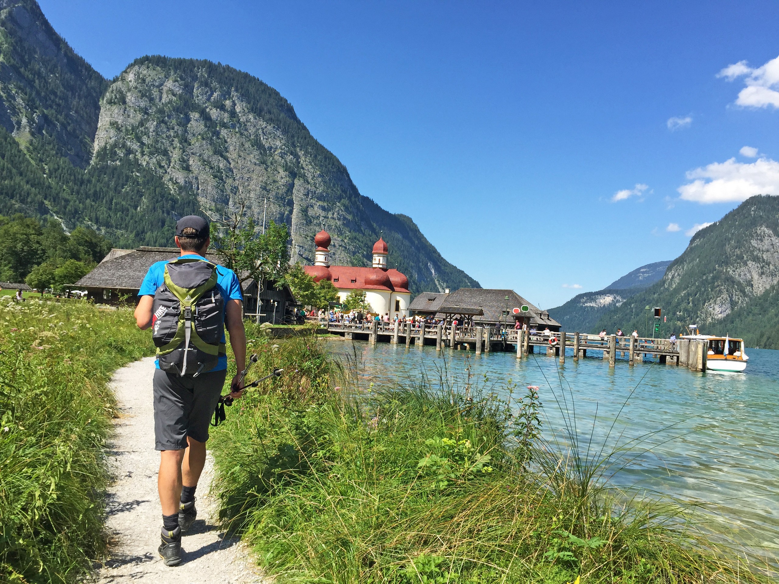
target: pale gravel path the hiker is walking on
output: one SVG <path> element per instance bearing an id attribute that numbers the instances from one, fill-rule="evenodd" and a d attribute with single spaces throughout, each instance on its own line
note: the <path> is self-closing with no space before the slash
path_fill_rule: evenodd
<path id="1" fill-rule="evenodd" d="M 160 455 L 154 450 L 153 375 L 154 359 L 146 357 L 119 369 L 111 384 L 120 412 L 109 444 L 115 476 L 108 492 L 111 557 L 97 571 L 96 582 L 266 582 L 248 549 L 225 538 L 215 525 L 217 504 L 208 492 L 213 477 L 210 454 L 196 493 L 198 519 L 182 540 L 182 563 L 169 568 L 157 554 L 162 510 L 157 498 Z"/>

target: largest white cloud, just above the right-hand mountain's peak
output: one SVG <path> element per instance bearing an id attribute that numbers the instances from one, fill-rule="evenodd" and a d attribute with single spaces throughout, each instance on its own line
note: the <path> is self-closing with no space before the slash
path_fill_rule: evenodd
<path id="1" fill-rule="evenodd" d="M 742 202 L 753 195 L 779 195 L 779 162 L 770 158 L 750 163 L 731 158 L 687 171 L 686 176 L 693 182 L 676 189 L 686 201 Z"/>

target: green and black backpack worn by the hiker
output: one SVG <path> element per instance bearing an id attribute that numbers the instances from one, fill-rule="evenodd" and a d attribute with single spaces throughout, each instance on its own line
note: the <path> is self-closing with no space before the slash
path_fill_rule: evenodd
<path id="1" fill-rule="evenodd" d="M 163 371 L 195 377 L 216 367 L 225 347 L 215 264 L 194 258 L 167 263 L 164 283 L 154 294 L 152 330 Z"/>

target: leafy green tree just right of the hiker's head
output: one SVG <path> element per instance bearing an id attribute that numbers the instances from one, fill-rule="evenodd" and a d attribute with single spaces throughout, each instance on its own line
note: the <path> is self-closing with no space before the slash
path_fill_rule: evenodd
<path id="1" fill-rule="evenodd" d="M 290 269 L 287 247 L 289 229 L 286 223 L 270 222 L 265 233 L 258 233 L 252 219 L 246 219 L 246 202 L 227 219 L 211 219 L 211 243 L 222 257 L 224 266 L 247 280 L 280 282 Z"/>

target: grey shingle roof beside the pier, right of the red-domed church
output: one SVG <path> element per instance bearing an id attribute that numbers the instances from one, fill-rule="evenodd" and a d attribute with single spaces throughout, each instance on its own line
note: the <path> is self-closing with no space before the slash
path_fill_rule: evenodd
<path id="1" fill-rule="evenodd" d="M 508 301 L 506 301 L 506 296 L 509 297 Z M 513 322 L 513 315 L 510 312 L 514 308 L 521 308 L 523 304 L 530 308 L 525 314 L 530 315 L 531 325 L 560 326 L 560 323 L 550 317 L 547 311 L 542 311 L 540 308 L 530 304 L 519 294 L 516 294 L 514 290 L 460 288 L 460 290 L 455 290 L 449 294 L 439 311 L 465 315 L 472 314 L 472 312 L 466 312 L 466 310 L 472 311 L 474 308 L 481 308 L 484 311 L 484 315 L 474 316 L 474 322 L 476 323 Z M 508 317 L 503 315 L 503 311 L 506 308 L 509 309 Z"/>

